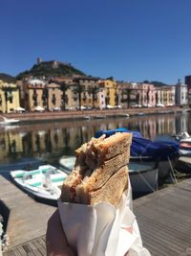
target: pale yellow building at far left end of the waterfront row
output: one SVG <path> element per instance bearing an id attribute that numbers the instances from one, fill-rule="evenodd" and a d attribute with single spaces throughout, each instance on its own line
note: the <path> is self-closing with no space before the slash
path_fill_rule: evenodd
<path id="1" fill-rule="evenodd" d="M 15 83 L 0 81 L 0 111 L 11 113 L 20 106 L 19 88 Z"/>

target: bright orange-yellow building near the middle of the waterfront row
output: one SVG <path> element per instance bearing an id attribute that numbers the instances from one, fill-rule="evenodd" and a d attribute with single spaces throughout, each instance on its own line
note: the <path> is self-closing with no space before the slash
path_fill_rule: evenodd
<path id="1" fill-rule="evenodd" d="M 106 107 L 117 106 L 118 105 L 117 82 L 113 80 L 103 80 L 103 81 L 99 81 L 99 85 L 105 91 Z"/>

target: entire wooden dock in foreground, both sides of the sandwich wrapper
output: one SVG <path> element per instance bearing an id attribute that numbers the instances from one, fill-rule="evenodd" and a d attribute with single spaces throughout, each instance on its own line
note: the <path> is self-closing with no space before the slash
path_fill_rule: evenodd
<path id="1" fill-rule="evenodd" d="M 9 188 L 6 187 L 3 197 L 2 182 L 5 182 L 5 186 L 9 186 Z M 9 191 L 10 189 L 11 191 Z M 24 205 L 22 206 L 20 201 L 13 203 L 14 207 L 11 209 L 18 207 L 18 209 L 23 209 L 23 211 L 21 211 L 22 213 L 18 213 L 15 209 L 17 212 L 16 223 L 19 225 L 14 223 L 13 226 L 9 227 L 12 229 L 11 243 L 13 244 L 10 244 L 10 248 L 3 255 L 45 256 L 46 221 L 53 212 L 53 208 L 36 203 L 26 195 L 21 196 L 20 192 L 16 192 L 16 189 L 12 188 L 12 184 L 9 185 L 7 181 L 3 181 L 0 178 L 0 195 L 6 199 L 6 202 L 10 200 L 14 201 L 17 194 L 19 198 L 21 197 L 20 199 L 23 199 L 23 197 L 27 198 L 29 203 L 25 203 L 26 207 Z M 21 192 L 21 194 L 23 193 Z M 27 211 L 28 217 L 25 216 L 25 211 Z M 42 214 L 44 211 L 45 214 Z M 143 244 L 148 248 L 152 256 L 191 255 L 191 179 L 184 180 L 178 185 L 134 200 L 134 213 L 137 216 Z M 36 218 L 38 215 L 40 215 L 39 220 Z M 23 219 L 23 216 L 25 221 L 20 220 L 20 218 Z M 22 233 L 20 231 L 21 224 L 29 225 L 28 229 L 22 230 Z M 39 224 L 41 226 L 40 230 L 39 227 L 37 228 Z M 32 225 L 35 225 L 35 228 L 34 226 L 32 228 Z M 13 237 L 14 232 L 21 233 L 19 240 L 16 238 L 17 235 Z M 23 234 L 26 235 L 25 238 L 22 238 Z"/>

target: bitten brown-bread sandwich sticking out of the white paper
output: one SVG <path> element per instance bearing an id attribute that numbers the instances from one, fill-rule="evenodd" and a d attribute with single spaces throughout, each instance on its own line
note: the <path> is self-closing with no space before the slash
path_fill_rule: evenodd
<path id="1" fill-rule="evenodd" d="M 61 201 L 80 204 L 109 202 L 117 206 L 128 187 L 131 133 L 92 138 L 75 151 L 74 169 L 65 179 Z"/>

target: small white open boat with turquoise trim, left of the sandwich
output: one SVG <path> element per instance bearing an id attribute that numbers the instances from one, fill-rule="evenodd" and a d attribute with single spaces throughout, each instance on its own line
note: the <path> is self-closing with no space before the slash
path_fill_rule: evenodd
<path id="1" fill-rule="evenodd" d="M 36 199 L 56 203 L 61 194 L 61 185 L 67 174 L 52 165 L 41 165 L 32 171 L 11 171 L 13 182 Z"/>

